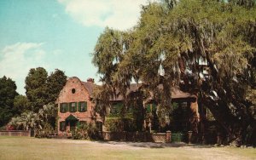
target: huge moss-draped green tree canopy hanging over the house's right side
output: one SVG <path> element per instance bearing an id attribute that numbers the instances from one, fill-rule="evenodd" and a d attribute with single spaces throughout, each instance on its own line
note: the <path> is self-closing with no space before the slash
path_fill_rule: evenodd
<path id="1" fill-rule="evenodd" d="M 249 126 L 256 132 L 255 17 L 254 0 L 149 3 L 131 31 L 102 33 L 93 62 L 113 94 L 125 94 L 132 78 L 141 81 L 153 91 L 163 117 L 172 111 L 172 87 L 183 82 L 236 139 Z M 201 72 L 204 60 L 207 77 Z"/>

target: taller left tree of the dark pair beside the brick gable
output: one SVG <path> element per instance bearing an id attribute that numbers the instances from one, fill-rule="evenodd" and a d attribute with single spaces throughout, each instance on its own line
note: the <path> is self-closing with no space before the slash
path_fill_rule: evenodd
<path id="1" fill-rule="evenodd" d="M 38 112 L 47 102 L 47 71 L 42 68 L 30 69 L 26 76 L 26 97 L 32 105 L 32 111 Z"/>

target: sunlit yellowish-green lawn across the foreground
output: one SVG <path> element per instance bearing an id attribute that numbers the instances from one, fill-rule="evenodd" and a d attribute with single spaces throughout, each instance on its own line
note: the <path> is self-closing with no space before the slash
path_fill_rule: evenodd
<path id="1" fill-rule="evenodd" d="M 256 159 L 256 149 L 0 136 L 0 159 Z"/>

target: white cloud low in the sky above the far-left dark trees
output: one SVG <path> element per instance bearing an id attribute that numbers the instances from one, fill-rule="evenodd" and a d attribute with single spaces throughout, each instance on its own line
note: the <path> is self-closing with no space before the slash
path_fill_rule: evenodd
<path id="1" fill-rule="evenodd" d="M 0 51 L 0 77 L 12 78 L 20 94 L 25 93 L 25 77 L 31 68 L 47 67 L 43 43 L 15 43 Z"/>

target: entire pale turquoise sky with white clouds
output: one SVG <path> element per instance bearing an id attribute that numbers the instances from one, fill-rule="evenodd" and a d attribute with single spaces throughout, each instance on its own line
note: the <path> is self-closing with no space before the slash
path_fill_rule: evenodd
<path id="1" fill-rule="evenodd" d="M 30 68 L 58 68 L 68 77 L 96 80 L 91 55 L 106 26 L 137 24 L 147 0 L 1 0 L 0 77 L 12 78 L 25 94 Z"/>

